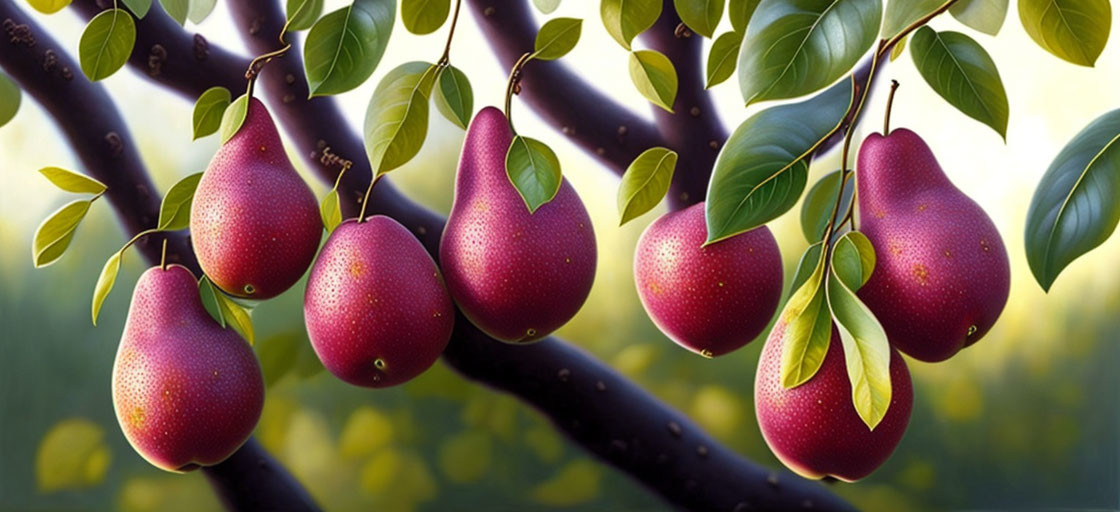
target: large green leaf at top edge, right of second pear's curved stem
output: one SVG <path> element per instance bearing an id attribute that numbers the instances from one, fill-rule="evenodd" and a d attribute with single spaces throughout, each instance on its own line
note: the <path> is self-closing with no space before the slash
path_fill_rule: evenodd
<path id="1" fill-rule="evenodd" d="M 393 0 L 354 0 L 316 21 L 304 47 L 311 96 L 362 85 L 385 53 L 395 16 Z"/>

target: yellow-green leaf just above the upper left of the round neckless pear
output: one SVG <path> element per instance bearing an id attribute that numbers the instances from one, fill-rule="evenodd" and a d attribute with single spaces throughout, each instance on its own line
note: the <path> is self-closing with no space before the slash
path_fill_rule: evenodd
<path id="1" fill-rule="evenodd" d="M 665 148 L 650 148 L 638 155 L 618 185 L 618 225 L 642 215 L 665 197 L 676 168 L 676 152 Z"/>

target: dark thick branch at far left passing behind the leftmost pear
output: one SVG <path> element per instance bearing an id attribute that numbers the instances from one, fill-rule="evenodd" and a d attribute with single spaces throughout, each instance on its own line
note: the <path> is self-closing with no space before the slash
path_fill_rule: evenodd
<path id="1" fill-rule="evenodd" d="M 0 66 L 50 113 L 85 171 L 109 185 L 105 197 L 125 230 L 136 233 L 152 227 L 160 194 L 105 89 L 90 83 L 69 55 L 12 0 L 0 0 Z M 159 261 L 162 236 L 138 243 L 151 263 Z M 187 236 L 167 236 L 168 260 L 199 272 Z M 203 473 L 231 510 L 318 510 L 302 486 L 254 439 Z"/>

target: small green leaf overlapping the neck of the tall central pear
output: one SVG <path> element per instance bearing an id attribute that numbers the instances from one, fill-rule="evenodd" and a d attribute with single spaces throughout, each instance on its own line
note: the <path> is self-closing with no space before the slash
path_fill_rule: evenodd
<path id="1" fill-rule="evenodd" d="M 560 160 L 544 142 L 516 136 L 505 153 L 505 174 L 510 177 L 529 213 L 552 201 L 560 192 Z"/>

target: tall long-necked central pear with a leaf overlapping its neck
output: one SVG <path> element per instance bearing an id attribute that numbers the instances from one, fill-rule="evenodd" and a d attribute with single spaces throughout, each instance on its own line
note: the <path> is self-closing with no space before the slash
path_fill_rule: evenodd
<path id="1" fill-rule="evenodd" d="M 564 179 L 530 213 L 505 171 L 510 122 L 491 106 L 467 129 L 439 260 L 463 314 L 506 343 L 534 342 L 579 311 L 595 280 L 591 220 Z"/>

